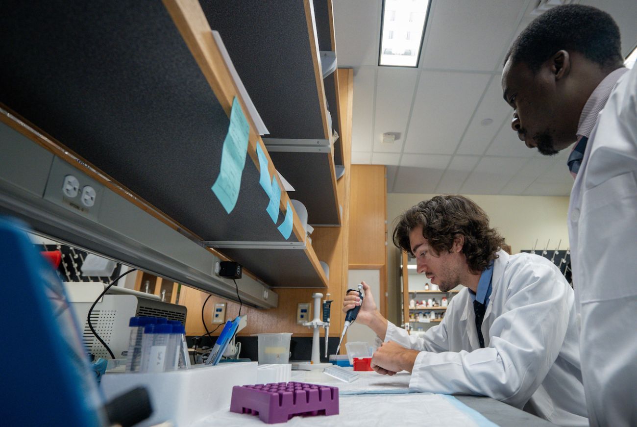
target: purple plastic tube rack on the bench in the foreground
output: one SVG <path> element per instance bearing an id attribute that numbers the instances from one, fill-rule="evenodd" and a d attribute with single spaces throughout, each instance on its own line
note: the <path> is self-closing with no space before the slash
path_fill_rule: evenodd
<path id="1" fill-rule="evenodd" d="M 234 386 L 231 412 L 258 415 L 264 423 L 286 423 L 301 415 L 338 414 L 338 388 L 306 382 Z"/>

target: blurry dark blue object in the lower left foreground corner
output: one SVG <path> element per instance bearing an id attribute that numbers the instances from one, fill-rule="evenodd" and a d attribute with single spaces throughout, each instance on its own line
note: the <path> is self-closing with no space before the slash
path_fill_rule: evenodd
<path id="1" fill-rule="evenodd" d="M 22 223 L 0 217 L 0 351 L 6 426 L 99 426 L 103 399 L 57 273 Z M 25 345 L 37 351 L 24 351 Z"/>

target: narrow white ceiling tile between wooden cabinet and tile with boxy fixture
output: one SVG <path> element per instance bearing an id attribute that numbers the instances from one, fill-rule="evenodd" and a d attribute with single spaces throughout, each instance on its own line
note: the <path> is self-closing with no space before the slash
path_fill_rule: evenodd
<path id="1" fill-rule="evenodd" d="M 359 69 L 354 75 L 352 151 L 371 152 L 375 89 L 376 67 Z"/>

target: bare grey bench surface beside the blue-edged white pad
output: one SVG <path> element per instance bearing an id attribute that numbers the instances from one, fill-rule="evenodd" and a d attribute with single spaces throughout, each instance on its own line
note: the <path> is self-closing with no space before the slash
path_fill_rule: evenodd
<path id="1" fill-rule="evenodd" d="M 549 427 L 556 424 L 485 396 L 455 396 L 500 427 Z"/>

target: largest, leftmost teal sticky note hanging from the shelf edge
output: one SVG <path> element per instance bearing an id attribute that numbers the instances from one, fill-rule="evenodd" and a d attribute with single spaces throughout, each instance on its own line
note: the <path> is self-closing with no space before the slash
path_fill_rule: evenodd
<path id="1" fill-rule="evenodd" d="M 243 115 L 238 99 L 234 98 L 230 125 L 221 151 L 221 168 L 215 184 L 210 187 L 228 214 L 233 212 L 239 197 L 249 134 L 248 120 Z"/>

